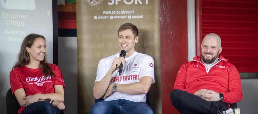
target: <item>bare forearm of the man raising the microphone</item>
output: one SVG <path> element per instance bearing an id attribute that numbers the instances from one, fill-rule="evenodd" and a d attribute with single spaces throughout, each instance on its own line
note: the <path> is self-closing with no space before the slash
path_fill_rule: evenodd
<path id="1" fill-rule="evenodd" d="M 96 99 L 101 98 L 107 91 L 112 74 L 112 71 L 108 71 L 107 74 L 99 82 L 95 82 L 95 85 L 93 87 L 93 96 Z"/>

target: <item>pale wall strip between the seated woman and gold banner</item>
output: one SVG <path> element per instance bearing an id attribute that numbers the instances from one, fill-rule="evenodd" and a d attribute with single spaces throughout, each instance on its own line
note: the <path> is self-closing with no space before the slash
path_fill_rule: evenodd
<path id="1" fill-rule="evenodd" d="M 64 78 L 64 113 L 77 114 L 77 37 L 58 37 L 58 66 Z"/>

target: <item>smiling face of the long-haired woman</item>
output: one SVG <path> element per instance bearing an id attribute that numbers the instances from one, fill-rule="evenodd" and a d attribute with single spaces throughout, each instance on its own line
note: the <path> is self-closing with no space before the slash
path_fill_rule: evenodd
<path id="1" fill-rule="evenodd" d="M 40 62 L 46 55 L 46 41 L 43 38 L 36 38 L 33 45 L 30 48 L 26 47 L 26 50 L 30 55 L 30 63 Z"/>

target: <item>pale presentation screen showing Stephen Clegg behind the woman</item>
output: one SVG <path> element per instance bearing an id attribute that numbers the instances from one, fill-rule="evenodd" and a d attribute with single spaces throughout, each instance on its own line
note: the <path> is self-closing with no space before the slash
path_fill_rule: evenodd
<path id="1" fill-rule="evenodd" d="M 52 0 L 0 0 L 0 89 L 5 90 L 1 91 L 2 96 L 10 88 L 9 73 L 21 43 L 31 33 L 45 36 L 47 59 L 53 63 Z"/>

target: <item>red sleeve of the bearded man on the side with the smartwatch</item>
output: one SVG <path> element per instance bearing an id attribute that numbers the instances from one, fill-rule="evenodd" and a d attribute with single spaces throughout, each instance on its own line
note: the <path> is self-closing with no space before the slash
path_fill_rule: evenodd
<path id="1" fill-rule="evenodd" d="M 241 78 L 239 72 L 235 66 L 232 66 L 231 70 L 228 73 L 228 92 L 221 92 L 224 95 L 222 102 L 226 103 L 236 103 L 241 101 L 243 94 L 241 88 Z"/>

